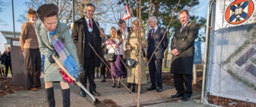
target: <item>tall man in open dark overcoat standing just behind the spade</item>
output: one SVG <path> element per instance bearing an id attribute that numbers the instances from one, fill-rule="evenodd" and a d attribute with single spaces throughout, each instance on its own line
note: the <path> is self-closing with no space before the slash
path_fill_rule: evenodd
<path id="1" fill-rule="evenodd" d="M 100 53 L 101 38 L 99 23 L 94 21 L 93 15 L 95 6 L 91 3 L 87 3 L 85 6 L 85 17 L 82 17 L 74 22 L 72 38 L 76 45 L 78 52 L 78 58 L 80 64 L 84 66 L 84 72 L 80 75 L 81 83 L 86 87 L 87 79 L 89 80 L 90 93 L 96 96 L 100 94 L 96 91 L 96 84 L 94 83 L 95 67 L 99 67 L 100 59 L 93 51 Z M 91 48 L 90 45 L 93 47 Z M 80 92 L 81 96 L 86 96 L 83 89 Z"/>

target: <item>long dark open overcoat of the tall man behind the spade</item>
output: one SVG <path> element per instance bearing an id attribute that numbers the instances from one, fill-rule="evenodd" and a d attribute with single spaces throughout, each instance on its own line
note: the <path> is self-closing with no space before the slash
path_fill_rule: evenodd
<path id="1" fill-rule="evenodd" d="M 93 34 L 92 37 L 93 43 L 91 44 L 93 48 L 95 49 L 96 53 L 100 54 L 100 47 L 102 45 L 101 38 L 100 38 L 100 30 L 98 28 L 99 23 L 94 21 L 94 19 L 91 19 L 93 21 Z M 73 42 L 76 46 L 76 51 L 78 53 L 78 58 L 80 64 L 84 65 L 84 59 L 89 58 L 91 53 L 91 47 L 89 45 L 90 40 L 86 39 L 86 36 L 89 36 L 89 30 L 88 25 L 86 24 L 85 18 L 82 17 L 74 22 L 73 30 L 72 30 L 72 38 Z M 96 55 L 95 55 L 96 56 Z M 95 57 L 95 67 L 100 66 L 100 59 L 99 57 Z"/>

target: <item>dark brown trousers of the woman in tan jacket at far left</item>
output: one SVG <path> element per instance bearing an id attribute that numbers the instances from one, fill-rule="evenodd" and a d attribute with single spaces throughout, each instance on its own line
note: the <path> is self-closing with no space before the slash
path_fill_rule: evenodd
<path id="1" fill-rule="evenodd" d="M 39 49 L 24 49 L 27 89 L 41 87 L 41 54 Z"/>

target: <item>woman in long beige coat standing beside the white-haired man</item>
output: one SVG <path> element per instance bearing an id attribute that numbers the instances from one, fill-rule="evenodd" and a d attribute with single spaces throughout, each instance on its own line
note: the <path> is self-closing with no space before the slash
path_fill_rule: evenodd
<path id="1" fill-rule="evenodd" d="M 136 63 L 134 64 L 134 67 L 127 67 L 127 83 L 132 83 L 132 92 L 135 91 L 136 85 L 141 81 L 141 84 L 147 83 L 146 78 L 146 67 L 145 60 L 143 57 L 143 51 L 139 54 L 139 47 L 138 43 L 141 43 L 140 45 L 144 47 L 145 38 L 144 34 L 141 33 L 141 40 L 139 40 L 139 22 L 137 20 L 133 21 L 132 23 L 133 32 L 131 33 L 130 37 L 127 38 L 129 44 L 127 45 L 127 58 L 136 60 Z M 143 50 L 143 48 L 142 48 Z M 139 63 L 139 57 L 141 57 L 141 61 Z M 139 71 L 139 66 L 141 67 L 141 71 Z M 143 75 L 141 77 L 141 75 Z M 142 78 L 142 79 L 139 79 Z"/>

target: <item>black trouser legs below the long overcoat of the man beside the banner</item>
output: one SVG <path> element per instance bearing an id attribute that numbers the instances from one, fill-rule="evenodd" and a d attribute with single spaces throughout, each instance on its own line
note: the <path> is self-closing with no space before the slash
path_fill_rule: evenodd
<path id="1" fill-rule="evenodd" d="M 192 75 L 174 73 L 173 78 L 177 94 L 190 98 L 192 95 Z"/>

